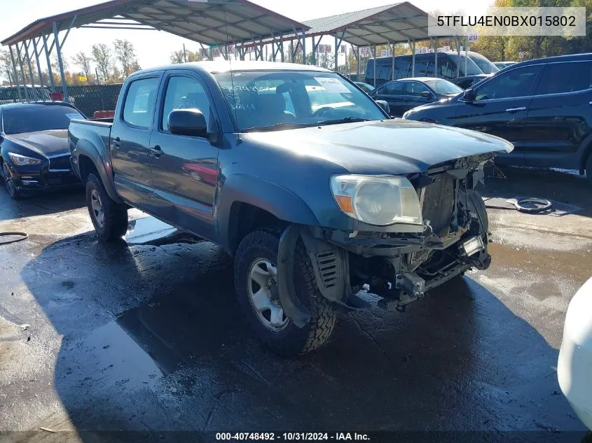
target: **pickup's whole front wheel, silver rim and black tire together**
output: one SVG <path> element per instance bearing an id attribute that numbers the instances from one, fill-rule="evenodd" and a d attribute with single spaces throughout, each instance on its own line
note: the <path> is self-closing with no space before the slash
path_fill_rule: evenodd
<path id="1" fill-rule="evenodd" d="M 317 287 L 302 241 L 296 248 L 296 294 L 310 311 L 310 322 L 298 328 L 287 318 L 277 297 L 277 251 L 280 234 L 257 230 L 240 242 L 235 256 L 235 287 L 247 321 L 275 353 L 296 356 L 321 346 L 333 332 L 336 314 Z"/>

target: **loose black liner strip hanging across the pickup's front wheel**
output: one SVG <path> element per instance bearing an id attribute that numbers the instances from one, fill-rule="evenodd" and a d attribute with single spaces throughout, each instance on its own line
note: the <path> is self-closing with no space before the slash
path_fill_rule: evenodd
<path id="1" fill-rule="evenodd" d="M 300 238 L 302 225 L 289 225 L 280 237 L 277 251 L 277 289 L 286 316 L 298 328 L 310 322 L 310 311 L 298 300 L 294 284 L 294 251 Z"/>

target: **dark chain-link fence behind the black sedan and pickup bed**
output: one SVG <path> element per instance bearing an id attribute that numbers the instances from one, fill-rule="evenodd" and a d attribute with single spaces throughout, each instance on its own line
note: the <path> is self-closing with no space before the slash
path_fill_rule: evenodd
<path id="1" fill-rule="evenodd" d="M 114 111 L 121 86 L 121 84 L 71 85 L 68 86 L 69 103 L 80 109 L 87 117 L 92 117 L 95 111 Z M 60 86 L 57 86 L 57 90 L 61 92 L 61 89 Z M 46 101 L 51 99 L 51 90 L 46 86 L 0 87 L 0 104 L 17 103 L 19 101 Z"/>

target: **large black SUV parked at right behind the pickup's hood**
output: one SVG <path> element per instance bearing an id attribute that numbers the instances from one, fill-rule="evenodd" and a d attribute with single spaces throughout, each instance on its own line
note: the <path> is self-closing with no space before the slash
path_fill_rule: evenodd
<path id="1" fill-rule="evenodd" d="M 513 64 L 403 118 L 499 136 L 514 145 L 500 164 L 577 169 L 592 181 L 591 103 L 592 55 L 565 55 Z"/>

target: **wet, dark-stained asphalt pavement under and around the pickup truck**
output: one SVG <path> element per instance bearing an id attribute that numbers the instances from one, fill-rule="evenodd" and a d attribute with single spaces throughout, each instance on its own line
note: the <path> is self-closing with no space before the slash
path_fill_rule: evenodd
<path id="1" fill-rule="evenodd" d="M 566 174 L 507 175 L 483 194 L 583 209 L 489 211 L 490 269 L 402 314 L 340 314 L 326 346 L 293 360 L 249 331 L 218 246 L 163 244 L 172 230 L 151 218 L 129 244 L 102 246 L 81 192 L 16 204 L 2 188 L 0 231 L 29 239 L 0 246 L 0 430 L 79 433 L 4 435 L 43 442 L 95 441 L 86 430 L 500 431 L 488 441 L 537 431 L 579 442 L 556 361 L 567 304 L 592 274 L 592 194 Z"/>

